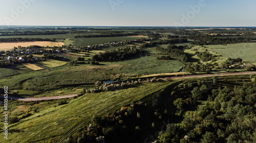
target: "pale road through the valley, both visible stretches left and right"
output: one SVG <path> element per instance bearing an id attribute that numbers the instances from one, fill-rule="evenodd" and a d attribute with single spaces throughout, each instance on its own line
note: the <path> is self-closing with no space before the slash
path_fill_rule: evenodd
<path id="1" fill-rule="evenodd" d="M 171 79 L 178 79 L 178 78 L 195 78 L 195 77 L 209 77 L 209 76 L 227 76 L 227 75 L 244 75 L 244 74 L 256 74 L 256 71 L 253 72 L 238 72 L 238 73 L 217 73 L 217 74 L 204 74 L 204 75 L 188 75 L 188 76 L 177 76 L 177 77 L 170 77 Z M 77 96 L 77 94 L 70 94 L 70 95 L 62 95 L 62 96 L 53 96 L 53 97 L 31 97 L 31 98 L 22 98 L 22 97 L 11 97 L 15 100 L 20 101 L 40 101 L 40 100 L 51 100 L 51 99 L 61 99 L 61 98 L 70 98 Z M 4 98 L 3 95 L 0 98 Z"/>

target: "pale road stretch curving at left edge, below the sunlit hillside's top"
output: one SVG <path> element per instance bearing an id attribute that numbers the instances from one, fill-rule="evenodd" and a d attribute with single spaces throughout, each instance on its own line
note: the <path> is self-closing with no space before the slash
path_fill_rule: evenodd
<path id="1" fill-rule="evenodd" d="M 8 99 L 14 99 L 14 100 L 19 100 L 19 101 L 40 101 L 40 100 L 52 100 L 52 99 L 70 98 L 70 97 L 74 97 L 74 96 L 77 96 L 77 94 L 62 95 L 62 96 L 52 96 L 52 97 L 29 97 L 29 98 L 8 96 Z M 4 98 L 4 96 L 1 95 L 0 98 Z"/>

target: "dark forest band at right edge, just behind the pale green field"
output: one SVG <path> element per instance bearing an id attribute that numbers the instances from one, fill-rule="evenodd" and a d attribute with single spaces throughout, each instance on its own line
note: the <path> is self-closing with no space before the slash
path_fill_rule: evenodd
<path id="1" fill-rule="evenodd" d="M 238 38 L 216 38 L 207 35 L 190 35 L 190 39 L 195 40 L 191 42 L 194 45 L 219 45 L 219 44 L 236 44 L 236 43 L 250 43 L 255 42 L 256 38 L 238 37 Z"/>

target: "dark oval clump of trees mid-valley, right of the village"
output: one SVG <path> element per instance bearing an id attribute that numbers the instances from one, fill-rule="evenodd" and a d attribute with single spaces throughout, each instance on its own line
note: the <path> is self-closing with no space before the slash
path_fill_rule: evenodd
<path id="1" fill-rule="evenodd" d="M 98 62 L 120 61 L 141 53 L 142 53 L 142 50 L 136 49 L 136 47 L 117 48 L 116 50 L 99 52 L 98 54 L 93 55 L 92 61 L 98 61 Z"/>

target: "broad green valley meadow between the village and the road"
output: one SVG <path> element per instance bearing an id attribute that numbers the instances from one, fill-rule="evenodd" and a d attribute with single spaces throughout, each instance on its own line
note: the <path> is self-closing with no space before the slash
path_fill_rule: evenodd
<path id="1" fill-rule="evenodd" d="M 149 56 L 135 56 L 119 62 L 100 62 L 100 65 L 85 64 L 70 66 L 69 64 L 66 64 L 66 62 L 56 60 L 40 62 L 35 65 L 45 69 L 40 71 L 31 70 L 29 72 L 21 72 L 18 75 L 12 76 L 11 79 L 0 79 L 0 86 L 8 85 L 10 91 L 21 90 L 20 95 L 24 97 L 53 96 L 56 94 L 51 93 L 51 91 L 63 88 L 59 87 L 59 85 L 69 84 L 69 86 L 72 85 L 72 87 L 76 87 L 77 85 L 75 84 L 93 84 L 97 80 L 108 81 L 148 74 L 177 72 L 184 67 L 184 64 L 177 60 L 156 60 L 158 55 L 155 48 L 147 48 L 146 51 Z M 97 52 L 99 51 L 92 51 L 90 54 L 96 54 Z M 74 59 L 68 55 L 61 56 L 70 58 L 69 60 Z M 20 69 L 18 71 L 20 71 Z M 41 92 L 33 92 L 31 90 L 47 90 L 49 93 L 41 94 Z M 72 91 L 69 92 L 72 93 Z M 31 95 L 27 93 L 31 93 Z"/>

